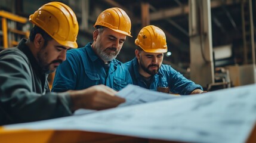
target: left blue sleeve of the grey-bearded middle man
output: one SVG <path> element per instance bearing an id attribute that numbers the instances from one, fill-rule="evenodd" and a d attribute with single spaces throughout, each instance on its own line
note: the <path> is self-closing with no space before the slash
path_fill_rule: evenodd
<path id="1" fill-rule="evenodd" d="M 67 52 L 66 61 L 63 61 L 55 72 L 53 88 L 51 91 L 64 92 L 75 90 L 78 78 L 77 72 L 79 70 L 78 62 L 79 61 L 75 58 L 75 54 Z"/>

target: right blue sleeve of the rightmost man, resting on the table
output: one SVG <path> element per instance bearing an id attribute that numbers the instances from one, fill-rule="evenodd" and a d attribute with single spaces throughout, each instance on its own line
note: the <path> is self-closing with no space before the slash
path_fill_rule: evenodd
<path id="1" fill-rule="evenodd" d="M 171 92 L 181 95 L 189 95 L 195 89 L 202 89 L 201 85 L 196 84 L 192 80 L 187 79 L 180 72 L 172 69 L 171 66 L 166 67 L 168 72 L 168 82 Z"/>

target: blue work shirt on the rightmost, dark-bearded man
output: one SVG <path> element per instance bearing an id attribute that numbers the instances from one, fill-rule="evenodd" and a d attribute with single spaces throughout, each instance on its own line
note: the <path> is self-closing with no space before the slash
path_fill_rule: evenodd
<path id="1" fill-rule="evenodd" d="M 175 94 L 188 95 L 195 89 L 202 89 L 201 85 L 197 85 L 189 79 L 186 79 L 181 73 L 172 69 L 171 66 L 162 64 L 159 71 L 152 77 L 149 87 L 143 80 L 143 76 L 138 72 L 138 61 L 135 57 L 133 60 L 125 63 L 132 77 L 134 85 L 141 86 L 153 91 L 157 91 L 158 87 L 169 88 L 169 91 Z"/>

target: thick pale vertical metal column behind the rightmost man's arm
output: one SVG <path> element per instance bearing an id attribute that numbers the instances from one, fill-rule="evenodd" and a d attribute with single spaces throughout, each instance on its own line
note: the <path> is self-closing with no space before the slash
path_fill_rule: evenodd
<path id="1" fill-rule="evenodd" d="M 207 87 L 214 83 L 210 0 L 190 0 L 190 79 Z"/>

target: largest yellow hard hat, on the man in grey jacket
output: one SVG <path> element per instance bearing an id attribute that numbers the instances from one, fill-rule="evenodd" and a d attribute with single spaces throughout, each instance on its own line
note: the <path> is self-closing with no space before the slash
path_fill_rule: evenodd
<path id="1" fill-rule="evenodd" d="M 49 2 L 29 16 L 29 21 L 47 32 L 64 46 L 77 48 L 78 20 L 70 7 L 61 2 Z"/>

